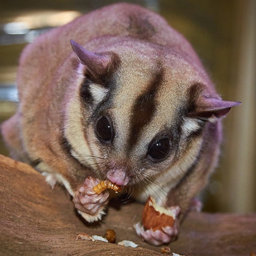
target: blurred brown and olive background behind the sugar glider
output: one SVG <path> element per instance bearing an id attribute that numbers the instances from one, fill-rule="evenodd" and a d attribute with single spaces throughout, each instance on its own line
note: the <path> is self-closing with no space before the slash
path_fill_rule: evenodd
<path id="1" fill-rule="evenodd" d="M 16 109 L 19 55 L 36 36 L 114 0 L 1 0 L 0 122 Z M 202 195 L 210 212 L 256 211 L 256 1 L 140 0 L 194 46 L 225 100 L 242 101 L 224 119 L 219 166 Z M 8 155 L 0 137 L 0 154 Z M 1 166 L 0 166 L 1 168 Z"/>

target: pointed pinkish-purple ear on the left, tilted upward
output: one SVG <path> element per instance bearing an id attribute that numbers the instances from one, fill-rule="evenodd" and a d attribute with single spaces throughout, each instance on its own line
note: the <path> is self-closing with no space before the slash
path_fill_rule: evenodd
<path id="1" fill-rule="evenodd" d="M 88 75 L 97 80 L 99 76 L 107 73 L 112 59 L 110 54 L 90 52 L 74 40 L 70 40 L 70 44 L 76 57 L 86 67 Z"/>

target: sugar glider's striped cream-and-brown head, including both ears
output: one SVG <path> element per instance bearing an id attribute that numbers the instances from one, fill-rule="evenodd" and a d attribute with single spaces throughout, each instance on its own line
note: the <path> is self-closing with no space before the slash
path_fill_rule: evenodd
<path id="1" fill-rule="evenodd" d="M 223 101 L 202 68 L 162 46 L 130 38 L 93 53 L 71 45 L 80 61 L 65 126 L 71 154 L 118 185 L 152 182 L 193 161 L 207 123 L 239 104 Z M 185 171 L 171 172 L 170 182 Z"/>

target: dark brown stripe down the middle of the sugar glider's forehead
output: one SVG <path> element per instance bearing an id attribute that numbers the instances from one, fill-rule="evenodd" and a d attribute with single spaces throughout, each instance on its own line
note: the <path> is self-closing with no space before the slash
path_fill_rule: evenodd
<path id="1" fill-rule="evenodd" d="M 151 81 L 150 86 L 145 90 L 143 94 L 137 97 L 133 109 L 131 118 L 131 132 L 129 136 L 129 149 L 136 144 L 139 135 L 144 126 L 146 126 L 152 120 L 156 111 L 155 97 L 163 77 L 163 70 L 155 75 Z"/>

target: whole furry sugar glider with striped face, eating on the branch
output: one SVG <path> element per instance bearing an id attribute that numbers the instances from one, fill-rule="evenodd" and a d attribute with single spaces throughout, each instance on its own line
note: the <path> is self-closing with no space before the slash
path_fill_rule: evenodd
<path id="1" fill-rule="evenodd" d="M 17 85 L 18 111 L 2 125 L 11 155 L 64 184 L 88 221 L 109 196 L 88 201 L 89 176 L 178 205 L 182 219 L 217 163 L 221 117 L 239 104 L 220 98 L 182 35 L 129 4 L 38 37 L 20 58 Z"/>

